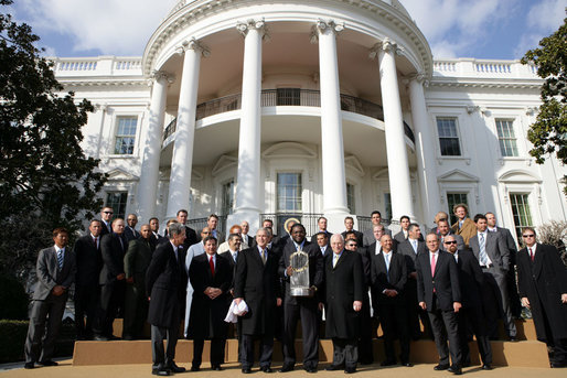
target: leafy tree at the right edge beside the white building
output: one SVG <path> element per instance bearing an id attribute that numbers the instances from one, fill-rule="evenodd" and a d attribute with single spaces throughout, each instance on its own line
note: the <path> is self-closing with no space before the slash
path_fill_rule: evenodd
<path id="1" fill-rule="evenodd" d="M 567 19 L 555 33 L 539 41 L 539 47 L 529 50 L 523 64 L 537 67 L 537 75 L 545 79 L 542 86 L 542 106 L 527 139 L 534 144 L 529 154 L 543 164 L 545 158 L 556 153 L 567 164 Z M 564 176 L 567 194 L 567 176 Z"/>

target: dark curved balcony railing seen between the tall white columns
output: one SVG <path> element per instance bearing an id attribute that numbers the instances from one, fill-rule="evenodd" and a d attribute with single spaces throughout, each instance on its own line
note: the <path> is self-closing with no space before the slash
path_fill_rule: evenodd
<path id="1" fill-rule="evenodd" d="M 264 89 L 261 90 L 260 104 L 261 107 L 309 106 L 319 108 L 321 107 L 321 93 L 319 90 L 299 88 Z M 196 106 L 195 119 L 200 120 L 221 112 L 239 110 L 240 105 L 242 94 L 215 98 Z M 384 111 L 379 105 L 359 97 L 341 95 L 341 109 L 384 121 Z M 175 127 L 176 119 L 165 127 L 163 140 L 175 132 Z M 416 142 L 414 131 L 406 122 L 404 122 L 404 132 L 413 143 Z"/>

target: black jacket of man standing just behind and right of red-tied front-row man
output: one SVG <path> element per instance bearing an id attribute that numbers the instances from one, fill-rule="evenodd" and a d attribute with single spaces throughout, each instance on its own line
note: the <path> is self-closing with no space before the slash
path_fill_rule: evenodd
<path id="1" fill-rule="evenodd" d="M 482 306 L 482 285 L 484 284 L 484 274 L 480 268 L 479 260 L 477 260 L 470 249 L 459 250 L 457 259 L 462 306 L 464 309 Z"/>

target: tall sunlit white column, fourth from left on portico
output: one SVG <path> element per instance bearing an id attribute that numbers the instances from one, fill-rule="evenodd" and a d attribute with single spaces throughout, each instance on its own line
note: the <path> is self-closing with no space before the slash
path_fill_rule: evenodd
<path id="1" fill-rule="evenodd" d="M 333 21 L 317 23 L 321 89 L 321 165 L 323 213 L 329 229 L 343 229 L 346 206 L 341 86 L 336 60 L 336 33 L 343 25 Z"/>

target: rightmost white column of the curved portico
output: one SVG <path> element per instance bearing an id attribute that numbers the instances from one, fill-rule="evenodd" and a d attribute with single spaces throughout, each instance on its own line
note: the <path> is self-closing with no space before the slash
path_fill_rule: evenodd
<path id="1" fill-rule="evenodd" d="M 437 185 L 436 140 L 429 126 L 429 115 L 427 114 L 424 85 L 427 85 L 422 74 L 414 75 L 409 78 L 409 98 L 411 102 L 411 119 L 416 132 L 416 155 L 417 174 L 421 188 L 421 206 L 425 224 L 431 224 L 435 215 L 441 209 L 439 197 L 439 186 Z"/>

